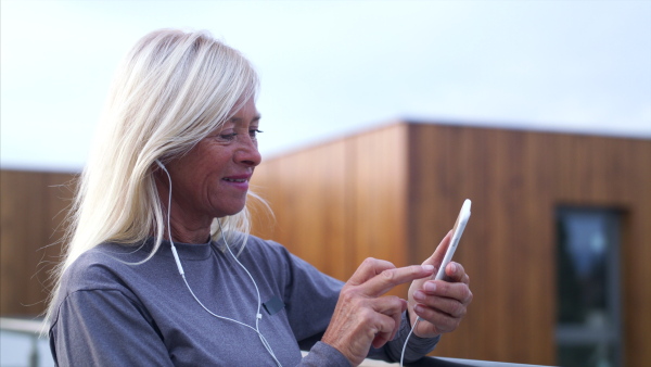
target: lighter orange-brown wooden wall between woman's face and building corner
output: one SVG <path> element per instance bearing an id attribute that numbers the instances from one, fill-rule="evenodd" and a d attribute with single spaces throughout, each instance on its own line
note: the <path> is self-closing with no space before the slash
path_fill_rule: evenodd
<path id="1" fill-rule="evenodd" d="M 254 232 L 342 280 L 369 256 L 407 264 L 406 143 L 395 125 L 264 161 L 253 190 L 276 222 L 257 218 Z"/>

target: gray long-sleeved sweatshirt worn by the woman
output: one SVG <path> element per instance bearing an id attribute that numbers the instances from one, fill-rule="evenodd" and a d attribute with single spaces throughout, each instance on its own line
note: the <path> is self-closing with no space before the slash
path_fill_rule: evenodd
<path id="1" fill-rule="evenodd" d="M 239 241 L 242 240 L 239 237 Z M 50 327 L 50 349 L 61 366 L 275 366 L 254 330 L 258 296 L 252 279 L 216 242 L 169 242 L 149 261 L 153 240 L 140 246 L 104 243 L 84 253 L 64 274 Z M 237 246 L 233 246 L 237 253 Z M 320 342 L 343 282 L 292 255 L 282 245 L 250 237 L 238 260 L 261 301 L 259 331 L 283 366 L 348 366 Z M 238 324 L 235 321 L 248 325 Z M 369 357 L 399 360 L 409 324 Z M 438 339 L 409 340 L 405 359 L 434 349 Z M 302 357 L 301 350 L 309 351 Z"/>

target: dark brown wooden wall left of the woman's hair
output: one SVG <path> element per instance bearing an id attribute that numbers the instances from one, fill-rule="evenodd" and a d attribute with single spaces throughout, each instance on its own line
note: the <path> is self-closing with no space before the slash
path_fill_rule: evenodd
<path id="1" fill-rule="evenodd" d="M 49 270 L 61 253 L 59 244 L 50 244 L 61 238 L 62 211 L 72 198 L 61 185 L 72 178 L 55 173 L 0 173 L 0 315 L 43 312 Z"/>

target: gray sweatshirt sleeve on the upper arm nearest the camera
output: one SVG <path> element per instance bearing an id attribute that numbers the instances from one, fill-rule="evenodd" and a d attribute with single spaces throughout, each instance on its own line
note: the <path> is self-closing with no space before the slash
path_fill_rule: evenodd
<path id="1" fill-rule="evenodd" d="M 68 294 L 50 328 L 50 349 L 59 366 L 173 366 L 155 327 L 118 290 Z"/>

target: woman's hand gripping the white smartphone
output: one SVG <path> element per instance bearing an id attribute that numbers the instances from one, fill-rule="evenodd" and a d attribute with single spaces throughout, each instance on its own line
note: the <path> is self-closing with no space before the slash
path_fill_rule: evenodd
<path id="1" fill-rule="evenodd" d="M 451 232 L 448 232 L 423 265 L 434 265 L 435 269 L 438 269 L 450 238 Z M 445 280 L 418 279 L 409 287 L 409 317 L 411 325 L 418 316 L 422 318 L 413 330 L 420 338 L 434 338 L 457 329 L 472 301 L 470 277 L 463 266 L 450 262 L 445 268 Z"/>

